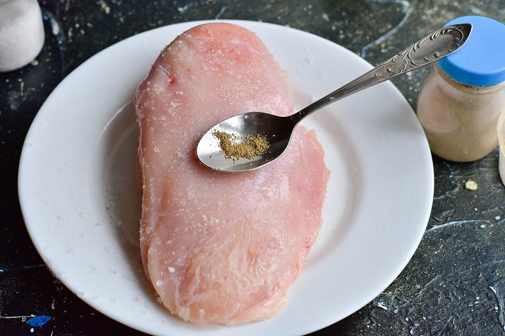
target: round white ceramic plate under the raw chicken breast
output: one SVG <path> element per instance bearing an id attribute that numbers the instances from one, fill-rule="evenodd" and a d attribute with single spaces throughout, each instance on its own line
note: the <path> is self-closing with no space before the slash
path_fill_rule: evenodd
<path id="1" fill-rule="evenodd" d="M 203 22 L 120 41 L 55 88 L 30 127 L 19 164 L 19 201 L 30 237 L 78 297 L 146 333 L 293 335 L 333 324 L 374 299 L 414 254 L 432 205 L 428 142 L 389 82 L 315 113 L 304 124 L 317 131 L 331 169 L 324 225 L 284 310 L 233 327 L 172 317 L 156 303 L 140 263 L 138 127 L 131 99 L 160 50 Z M 300 30 L 230 22 L 256 32 L 288 71 L 297 109 L 371 68 L 349 50 Z"/>

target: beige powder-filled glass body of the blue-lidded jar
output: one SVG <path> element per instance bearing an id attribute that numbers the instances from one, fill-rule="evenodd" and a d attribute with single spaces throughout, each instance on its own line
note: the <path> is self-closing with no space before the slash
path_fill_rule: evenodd
<path id="1" fill-rule="evenodd" d="M 505 82 L 470 86 L 452 80 L 438 64 L 434 68 L 417 105 L 430 149 L 452 161 L 483 158 L 498 143 L 496 125 L 505 109 Z"/>

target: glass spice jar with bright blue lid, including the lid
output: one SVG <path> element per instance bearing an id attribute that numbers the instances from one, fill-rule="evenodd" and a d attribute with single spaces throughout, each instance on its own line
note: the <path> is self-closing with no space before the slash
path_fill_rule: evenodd
<path id="1" fill-rule="evenodd" d="M 419 93 L 417 116 L 433 153 L 469 162 L 498 143 L 497 121 L 505 109 L 505 26 L 477 16 L 448 25 L 461 23 L 472 24 L 470 37 L 434 65 Z"/>

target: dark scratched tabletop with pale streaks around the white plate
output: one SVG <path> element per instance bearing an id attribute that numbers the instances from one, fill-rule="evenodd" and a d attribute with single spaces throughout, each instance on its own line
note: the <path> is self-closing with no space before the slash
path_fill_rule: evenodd
<path id="1" fill-rule="evenodd" d="M 17 200 L 19 155 L 30 123 L 55 86 L 98 51 L 168 24 L 246 19 L 312 32 L 378 64 L 454 17 L 505 21 L 504 0 L 55 0 L 40 5 L 46 42 L 37 62 L 0 73 L 0 335 L 140 334 L 84 304 L 53 277 L 28 237 Z M 414 110 L 429 71 L 394 80 Z M 472 163 L 437 157 L 433 163 L 432 213 L 410 263 L 367 306 L 316 335 L 505 335 L 505 187 L 498 149 Z M 466 189 L 466 180 L 479 188 Z M 28 319 L 34 315 L 51 319 L 33 327 Z"/>

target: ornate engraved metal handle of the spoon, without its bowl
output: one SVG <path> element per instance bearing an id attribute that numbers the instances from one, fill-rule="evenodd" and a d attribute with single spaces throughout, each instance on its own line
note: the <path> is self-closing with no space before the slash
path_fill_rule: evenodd
<path id="1" fill-rule="evenodd" d="M 307 115 L 318 111 L 324 106 L 336 102 L 353 93 L 369 88 L 401 73 L 407 73 L 426 64 L 438 61 L 458 50 L 470 36 L 471 24 L 456 24 L 435 30 L 432 34 L 412 44 L 401 53 L 394 55 L 386 62 L 371 69 L 371 71 L 345 84 L 329 95 L 313 102 L 304 109 L 291 115 L 291 120 L 297 124 Z"/>

